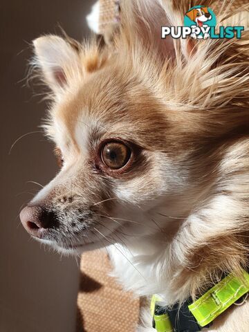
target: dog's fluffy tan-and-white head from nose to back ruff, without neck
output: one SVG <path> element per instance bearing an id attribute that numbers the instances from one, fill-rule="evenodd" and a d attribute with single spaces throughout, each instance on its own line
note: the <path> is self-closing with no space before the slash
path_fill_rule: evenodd
<path id="1" fill-rule="evenodd" d="M 140 12 L 135 2 L 121 8 L 109 48 L 35 40 L 35 65 L 53 92 L 44 129 L 61 169 L 21 221 L 66 252 L 179 234 L 180 259 L 189 252 L 181 243 L 201 246 L 239 225 L 230 194 L 247 158 L 248 143 L 237 145 L 248 131 L 247 66 L 243 44 L 161 40 L 165 9 Z M 234 54 L 241 64 L 229 63 Z"/>

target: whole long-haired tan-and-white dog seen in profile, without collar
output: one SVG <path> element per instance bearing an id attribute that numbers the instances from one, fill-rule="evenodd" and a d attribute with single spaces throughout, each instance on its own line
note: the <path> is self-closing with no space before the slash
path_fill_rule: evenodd
<path id="1" fill-rule="evenodd" d="M 120 1 L 107 46 L 35 39 L 33 67 L 51 91 L 43 127 L 60 170 L 20 214 L 59 252 L 107 246 L 124 290 L 158 294 L 167 307 L 249 263 L 248 33 L 160 39 L 188 6 Z M 217 17 L 229 24 L 232 2 L 222 6 Z M 246 301 L 230 306 L 207 329 L 246 332 L 248 311 Z M 148 309 L 138 331 L 156 331 L 151 320 Z"/>

